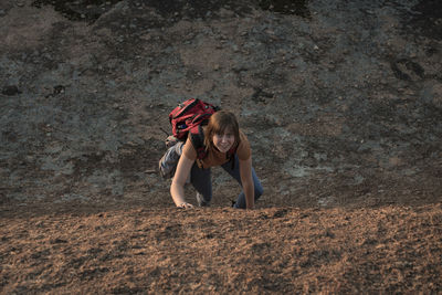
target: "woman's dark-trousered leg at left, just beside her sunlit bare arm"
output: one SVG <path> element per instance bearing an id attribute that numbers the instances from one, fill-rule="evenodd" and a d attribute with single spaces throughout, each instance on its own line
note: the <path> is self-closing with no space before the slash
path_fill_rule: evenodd
<path id="1" fill-rule="evenodd" d="M 198 191 L 197 201 L 200 207 L 210 206 L 212 200 L 212 177 L 210 168 L 199 168 L 197 162 L 193 164 L 190 171 L 190 182 L 193 188 Z"/>

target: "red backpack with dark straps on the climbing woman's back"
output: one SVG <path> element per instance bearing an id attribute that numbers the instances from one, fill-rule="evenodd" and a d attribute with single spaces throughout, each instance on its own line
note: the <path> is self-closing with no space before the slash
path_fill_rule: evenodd
<path id="1" fill-rule="evenodd" d="M 201 126 L 207 125 L 210 116 L 220 109 L 220 107 L 202 102 L 198 98 L 190 98 L 179 104 L 169 114 L 172 135 L 179 140 L 186 141 L 190 133 L 190 139 L 197 150 L 198 159 L 203 159 L 207 155 L 204 147 L 204 133 Z M 236 148 L 238 145 L 228 151 L 228 157 L 230 159 L 233 159 Z"/>

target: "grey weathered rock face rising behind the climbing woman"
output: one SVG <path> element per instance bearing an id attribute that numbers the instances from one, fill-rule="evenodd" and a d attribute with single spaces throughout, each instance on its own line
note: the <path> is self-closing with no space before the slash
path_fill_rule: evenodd
<path id="1" fill-rule="evenodd" d="M 441 200 L 436 1 L 53 2 L 0 3 L 1 203 L 171 206 L 151 170 L 189 97 L 238 115 L 259 206 Z"/>

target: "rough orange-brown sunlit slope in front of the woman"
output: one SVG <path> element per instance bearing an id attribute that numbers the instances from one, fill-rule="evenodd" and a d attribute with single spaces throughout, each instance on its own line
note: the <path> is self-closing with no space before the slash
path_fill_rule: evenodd
<path id="1" fill-rule="evenodd" d="M 1 294 L 442 292 L 442 204 L 0 219 Z"/>

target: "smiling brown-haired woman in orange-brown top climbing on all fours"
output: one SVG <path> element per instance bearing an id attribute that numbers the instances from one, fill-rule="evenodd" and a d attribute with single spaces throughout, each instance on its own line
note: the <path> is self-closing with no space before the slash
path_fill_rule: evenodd
<path id="1" fill-rule="evenodd" d="M 197 159 L 197 150 L 190 140 L 190 136 L 182 147 L 182 154 L 170 187 L 170 194 L 175 204 L 179 208 L 192 208 L 192 204 L 185 200 L 185 183 L 190 175 L 190 182 L 198 191 L 198 204 L 200 207 L 210 206 L 212 199 L 210 167 L 221 166 L 243 188 L 243 192 L 240 193 L 233 207 L 253 209 L 255 200 L 263 193 L 263 188 L 252 167 L 249 140 L 240 131 L 235 116 L 225 110 L 214 113 L 210 117 L 209 124 L 203 127 L 203 134 L 204 158 Z M 234 154 L 229 157 L 232 149 Z"/>

